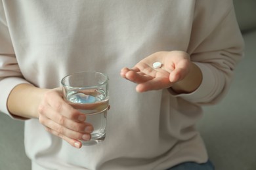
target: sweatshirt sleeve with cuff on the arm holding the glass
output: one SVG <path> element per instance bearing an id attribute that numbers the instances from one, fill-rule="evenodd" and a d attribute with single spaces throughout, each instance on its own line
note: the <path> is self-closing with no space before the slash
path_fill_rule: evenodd
<path id="1" fill-rule="evenodd" d="M 18 67 L 7 26 L 7 20 L 5 19 L 3 4 L 0 2 L 0 112 L 19 120 L 23 118 L 13 116 L 7 109 L 7 99 L 11 90 L 22 83 L 29 82 L 23 78 Z"/>

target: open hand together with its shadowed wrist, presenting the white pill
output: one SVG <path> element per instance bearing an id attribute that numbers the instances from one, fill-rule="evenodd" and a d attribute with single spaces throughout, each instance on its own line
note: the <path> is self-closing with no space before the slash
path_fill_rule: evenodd
<path id="1" fill-rule="evenodd" d="M 153 63 L 160 62 L 155 69 Z M 200 69 L 190 61 L 186 52 L 156 52 L 137 63 L 133 68 L 121 69 L 120 75 L 137 83 L 137 92 L 173 88 L 179 93 L 193 92 L 202 82 Z"/>

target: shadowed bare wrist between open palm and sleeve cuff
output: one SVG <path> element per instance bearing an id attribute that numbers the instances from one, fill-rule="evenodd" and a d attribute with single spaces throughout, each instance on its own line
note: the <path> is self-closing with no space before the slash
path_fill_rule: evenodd
<path id="1" fill-rule="evenodd" d="M 171 88 L 177 93 L 194 92 L 202 83 L 202 72 L 200 68 L 191 62 L 190 72 L 181 81 L 173 84 Z"/>

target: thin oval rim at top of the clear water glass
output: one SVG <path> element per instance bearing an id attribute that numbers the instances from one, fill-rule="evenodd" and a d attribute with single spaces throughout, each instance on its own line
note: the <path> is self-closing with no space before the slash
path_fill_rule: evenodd
<path id="1" fill-rule="evenodd" d="M 96 74 L 99 74 L 99 75 L 103 75 L 106 77 L 106 80 L 104 80 L 104 82 L 102 82 L 102 84 L 99 84 L 99 86 L 102 86 L 104 84 L 107 84 L 108 83 L 108 75 L 106 73 L 100 73 L 98 71 L 79 71 L 79 72 L 75 72 L 75 73 L 72 73 L 70 75 L 66 75 L 64 76 L 62 79 L 61 79 L 61 84 L 62 86 L 66 87 L 66 88 L 70 88 L 70 89 L 91 89 L 91 88 L 96 88 L 97 86 L 90 86 L 90 87 L 82 87 L 82 86 L 77 86 L 77 87 L 74 87 L 74 86 L 68 86 L 66 84 L 64 84 L 64 80 L 68 77 L 68 76 L 72 76 L 72 75 L 77 75 L 77 74 L 82 74 L 82 73 L 96 73 Z"/>

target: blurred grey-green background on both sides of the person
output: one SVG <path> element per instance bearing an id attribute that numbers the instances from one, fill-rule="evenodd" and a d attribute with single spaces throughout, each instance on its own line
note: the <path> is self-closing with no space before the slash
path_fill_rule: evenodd
<path id="1" fill-rule="evenodd" d="M 198 124 L 216 170 L 256 169 L 256 0 L 234 0 L 245 40 L 245 58 L 238 64 L 226 97 L 203 107 Z M 24 122 L 0 114 L 0 170 L 30 170 L 24 151 Z"/>

